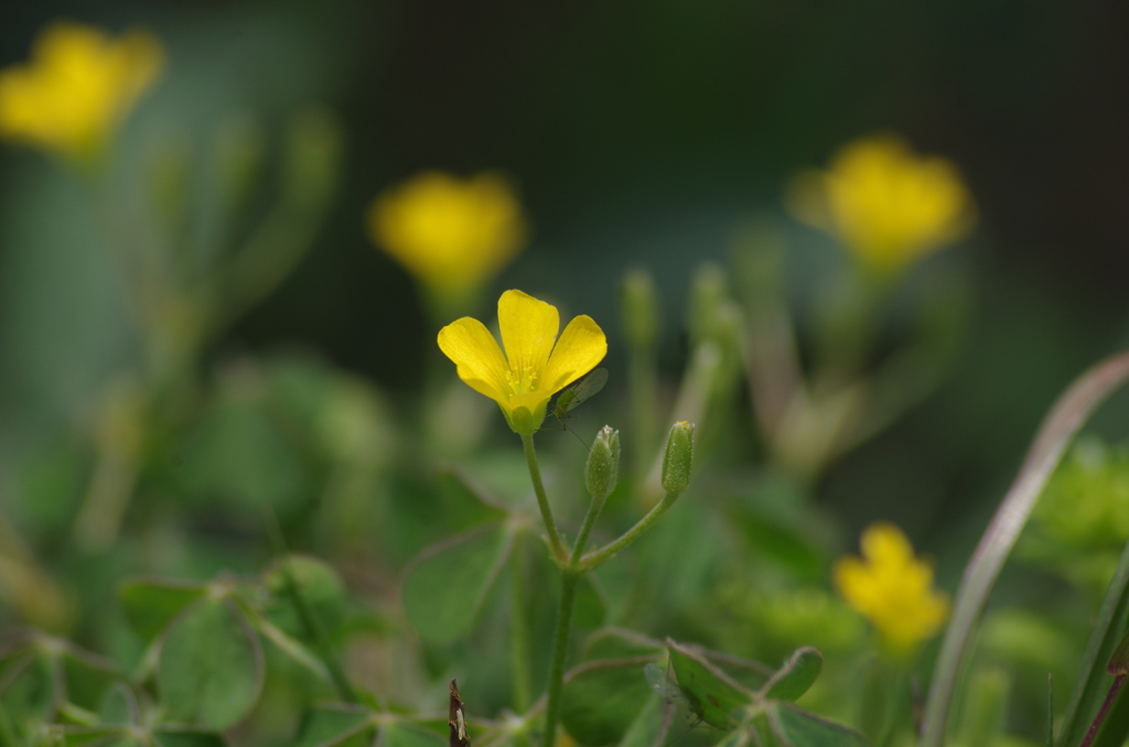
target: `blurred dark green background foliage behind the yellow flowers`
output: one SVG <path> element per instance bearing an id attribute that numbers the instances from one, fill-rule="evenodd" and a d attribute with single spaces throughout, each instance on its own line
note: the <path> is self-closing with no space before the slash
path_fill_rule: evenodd
<path id="1" fill-rule="evenodd" d="M 126 668 L 145 642 L 114 601 L 121 579 L 259 574 L 275 554 L 265 503 L 291 548 L 342 574 L 333 629 L 358 683 L 440 704 L 457 673 L 476 680 L 472 711 L 509 702 L 505 622 L 425 644 L 399 590 L 421 548 L 497 515 L 438 467 L 464 465 L 509 506 L 527 498 L 516 440 L 450 386 L 434 343 L 457 314 L 489 324 L 497 291 L 522 288 L 609 334 L 607 388 L 569 425 L 585 441 L 605 422 L 623 431 L 633 477 L 610 499 L 613 525 L 646 504 L 668 415 L 708 413 L 683 518 L 602 569 L 609 607 L 578 624 L 773 666 L 803 644 L 841 653 L 808 703 L 854 722 L 834 692 L 869 639 L 832 561 L 889 520 L 955 590 L 1056 394 L 1129 342 L 1115 3 L 20 3 L 0 11 L 0 67 L 56 18 L 148 28 L 165 59 L 100 177 L 0 149 L 0 544 L 17 568 L 0 619 Z M 874 133 L 949 159 L 977 214 L 878 290 L 852 285 L 833 231 L 786 210 L 797 174 Z M 366 218 L 378 193 L 435 169 L 501 174 L 527 222 L 522 254 L 457 311 L 374 249 Z M 658 322 L 631 317 L 638 282 L 653 282 Z M 933 368 L 895 387 L 889 419 L 797 462 L 752 415 L 733 326 L 781 308 L 798 360 L 830 370 L 833 392 L 911 342 Z M 868 322 L 852 327 L 859 308 Z M 852 328 L 867 332 L 850 370 L 821 368 L 846 360 Z M 679 397 L 694 376 L 714 387 L 697 405 Z M 659 414 L 631 404 L 640 387 Z M 1129 537 L 1127 414 L 1114 397 L 1071 452 L 986 618 L 970 687 L 1014 693 L 1027 738 L 1045 671 L 1069 686 Z M 788 438 L 831 439 L 812 422 Z M 575 527 L 583 504 L 564 496 L 585 449 L 564 432 L 539 445 Z M 505 621 L 492 599 L 483 614 Z M 548 665 L 534 661 L 536 689 Z M 982 744 L 975 719 L 969 744 Z M 256 723 L 253 740 L 285 739 L 287 723 Z"/>

